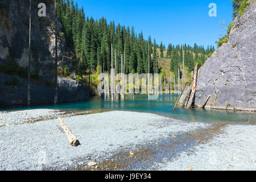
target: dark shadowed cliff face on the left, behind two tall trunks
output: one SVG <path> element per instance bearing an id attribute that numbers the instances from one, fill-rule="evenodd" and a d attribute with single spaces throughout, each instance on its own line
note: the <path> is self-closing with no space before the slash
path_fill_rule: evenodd
<path id="1" fill-rule="evenodd" d="M 38 4 L 46 3 L 46 17 L 38 16 Z M 55 63 L 55 13 L 51 1 L 32 1 L 31 5 L 31 102 L 53 102 Z M 61 24 L 57 22 L 61 32 Z M 28 65 L 29 1 L 1 0 L 0 2 L 0 105 L 26 104 Z M 61 34 L 60 34 L 61 35 Z M 59 65 L 75 67 L 74 55 L 58 39 Z M 9 68 L 10 67 L 10 68 Z M 10 71 L 9 71 L 10 70 Z M 75 72 L 75 70 L 74 70 Z M 74 73 L 74 75 L 76 75 Z M 59 77 L 59 101 L 77 101 L 88 98 L 77 81 Z"/>

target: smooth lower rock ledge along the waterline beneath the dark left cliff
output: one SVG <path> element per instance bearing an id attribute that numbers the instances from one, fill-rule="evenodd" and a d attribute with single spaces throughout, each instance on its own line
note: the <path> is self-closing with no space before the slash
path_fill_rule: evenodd
<path id="1" fill-rule="evenodd" d="M 27 104 L 27 79 L 0 73 L 0 105 Z M 17 84 L 9 85 L 13 79 Z M 71 78 L 58 77 L 59 90 L 58 101 L 80 101 L 88 99 L 88 92 L 84 86 Z M 46 84 L 31 84 L 31 103 L 52 103 L 54 100 L 54 88 Z"/>

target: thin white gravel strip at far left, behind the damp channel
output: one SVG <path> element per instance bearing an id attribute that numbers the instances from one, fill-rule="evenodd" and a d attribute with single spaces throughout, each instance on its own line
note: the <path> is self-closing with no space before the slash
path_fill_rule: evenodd
<path id="1" fill-rule="evenodd" d="M 28 122 L 32 119 L 40 117 L 51 117 L 53 115 L 58 115 L 63 112 L 53 109 L 32 109 L 32 110 L 20 110 L 0 112 L 0 126 L 17 125 L 20 123 Z"/>

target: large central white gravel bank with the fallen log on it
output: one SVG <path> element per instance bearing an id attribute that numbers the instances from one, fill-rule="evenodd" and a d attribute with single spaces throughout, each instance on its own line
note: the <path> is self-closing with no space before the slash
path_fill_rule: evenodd
<path id="1" fill-rule="evenodd" d="M 64 118 L 64 122 L 80 140 L 80 146 L 68 143 L 57 119 L 1 127 L 0 170 L 67 169 L 77 163 L 87 164 L 88 156 L 98 162 L 116 151 L 132 150 L 136 144 L 210 125 L 127 111 L 79 115 Z"/>

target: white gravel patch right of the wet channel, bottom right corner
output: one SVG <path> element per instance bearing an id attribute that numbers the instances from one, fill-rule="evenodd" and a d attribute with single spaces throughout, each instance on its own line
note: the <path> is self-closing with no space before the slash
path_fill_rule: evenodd
<path id="1" fill-rule="evenodd" d="M 192 152 L 183 152 L 176 160 L 166 164 L 155 164 L 158 170 L 185 170 L 189 166 L 195 171 L 255 171 L 256 170 L 256 126 L 229 125 L 224 134 L 207 144 L 200 144 Z"/>

